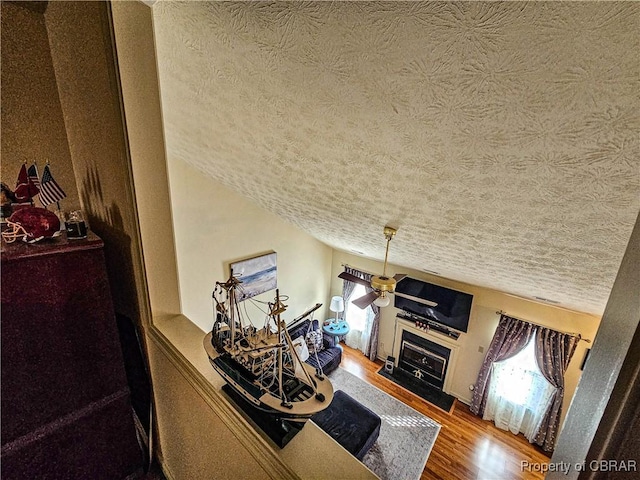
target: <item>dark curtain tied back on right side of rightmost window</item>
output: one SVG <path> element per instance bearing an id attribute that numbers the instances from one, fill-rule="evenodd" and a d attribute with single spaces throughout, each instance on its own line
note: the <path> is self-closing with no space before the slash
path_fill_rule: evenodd
<path id="1" fill-rule="evenodd" d="M 551 405 L 542 419 L 540 430 L 535 437 L 535 443 L 546 452 L 552 451 L 555 446 L 564 399 L 564 373 L 567 371 L 579 341 L 579 336 L 544 327 L 538 328 L 536 335 L 538 367 L 549 383 L 556 388 L 551 397 Z"/>

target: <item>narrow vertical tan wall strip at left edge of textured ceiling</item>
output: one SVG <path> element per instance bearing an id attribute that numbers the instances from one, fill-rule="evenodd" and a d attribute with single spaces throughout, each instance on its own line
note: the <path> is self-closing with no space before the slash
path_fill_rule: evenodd
<path id="1" fill-rule="evenodd" d="M 140 2 L 111 2 L 111 12 L 149 306 L 154 316 L 177 314 L 178 278 L 151 9 Z"/>

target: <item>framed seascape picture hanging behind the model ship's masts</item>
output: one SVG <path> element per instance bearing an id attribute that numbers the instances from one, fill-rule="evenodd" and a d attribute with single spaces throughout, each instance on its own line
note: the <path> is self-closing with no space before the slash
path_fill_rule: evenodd
<path id="1" fill-rule="evenodd" d="M 232 262 L 229 267 L 233 276 L 242 282 L 238 288 L 240 302 L 278 288 L 276 252 Z"/>

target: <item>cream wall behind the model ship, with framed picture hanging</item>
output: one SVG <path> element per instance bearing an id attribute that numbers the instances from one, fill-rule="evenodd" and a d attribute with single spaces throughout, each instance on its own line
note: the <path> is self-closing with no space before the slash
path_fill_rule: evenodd
<path id="1" fill-rule="evenodd" d="M 331 249 L 187 163 L 169 158 L 169 178 L 182 312 L 203 331 L 213 322 L 211 293 L 229 276 L 229 263 L 275 251 L 278 288 L 288 295 L 291 321 L 316 303 L 327 310 Z M 273 301 L 274 292 L 256 300 Z M 254 323 L 264 314 L 245 301 Z M 264 309 L 264 306 L 262 307 Z"/>

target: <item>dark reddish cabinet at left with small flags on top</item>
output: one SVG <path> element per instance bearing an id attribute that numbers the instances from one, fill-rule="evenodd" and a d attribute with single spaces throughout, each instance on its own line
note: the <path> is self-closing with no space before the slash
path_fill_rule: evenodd
<path id="1" fill-rule="evenodd" d="M 2 246 L 2 478 L 140 470 L 102 241 Z"/>

